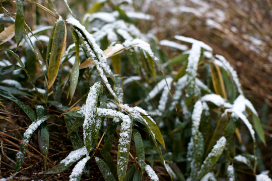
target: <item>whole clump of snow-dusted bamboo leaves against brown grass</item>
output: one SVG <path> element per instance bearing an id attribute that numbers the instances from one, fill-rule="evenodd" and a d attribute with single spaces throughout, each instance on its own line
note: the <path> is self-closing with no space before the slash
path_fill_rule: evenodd
<path id="1" fill-rule="evenodd" d="M 258 115 L 244 97 L 235 70 L 223 56 L 214 56 L 210 46 L 175 36 L 192 46 L 168 60 L 156 40 L 141 34 L 132 24 L 129 13 L 120 8 L 123 5 L 111 1 L 96 3 L 82 22 L 74 17 L 63 20 L 51 1 L 49 9 L 35 3 L 57 18 L 53 27 L 35 31 L 25 22 L 22 2 L 16 0 L 15 4 L 15 23 L 2 28 L 0 34 L 0 53 L 11 60 L 1 63 L 0 75 L 6 80 L 1 81 L 0 96 L 18 104 L 32 121 L 24 133 L 15 172 L 35 130 L 46 167 L 50 146 L 46 120 L 54 116 L 46 109 L 53 106 L 62 113 L 58 117 L 65 120 L 74 151 L 43 171 L 46 174 L 59 173 L 76 163 L 70 179 L 80 180 L 84 170 L 88 175 L 88 160 L 97 151 L 104 158 L 96 157 L 95 161 L 105 180 L 142 180 L 144 172 L 151 180 L 159 180 L 150 166 L 156 160 L 173 180 L 215 180 L 214 172 L 235 180 L 237 162 L 256 173 L 255 131 L 265 144 Z M 96 13 L 104 5 L 114 12 Z M 14 17 L 9 12 L 1 14 L 2 27 L 4 20 L 14 22 Z M 50 37 L 40 35 L 48 30 Z M 66 41 L 70 32 L 74 43 Z M 150 41 L 153 49 L 143 39 Z M 174 71 L 176 68 L 179 70 Z M 65 91 L 67 87 L 69 92 Z M 22 95 L 35 100 L 36 113 L 19 100 Z M 241 148 L 238 120 L 249 130 L 253 154 Z M 119 138 L 116 164 L 110 153 L 115 134 Z M 133 157 L 129 152 L 131 141 L 137 164 L 127 170 L 129 155 Z"/>

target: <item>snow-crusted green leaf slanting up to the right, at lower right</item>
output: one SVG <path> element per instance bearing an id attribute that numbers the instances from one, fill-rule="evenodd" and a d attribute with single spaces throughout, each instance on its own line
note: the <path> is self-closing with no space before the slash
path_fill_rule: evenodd
<path id="1" fill-rule="evenodd" d="M 212 149 L 211 153 L 207 156 L 207 158 L 204 160 L 203 164 L 201 165 L 200 170 L 197 173 L 197 179 L 201 179 L 204 175 L 206 175 L 208 172 L 212 170 L 214 165 L 216 164 L 217 160 L 221 156 L 224 147 L 226 145 L 226 138 L 222 136 Z"/>

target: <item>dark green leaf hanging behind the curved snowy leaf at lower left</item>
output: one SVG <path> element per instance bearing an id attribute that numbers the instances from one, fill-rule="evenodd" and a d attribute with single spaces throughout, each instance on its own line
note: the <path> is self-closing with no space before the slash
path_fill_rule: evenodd
<path id="1" fill-rule="evenodd" d="M 46 110 L 44 106 L 36 104 L 35 108 L 37 113 L 37 119 L 41 119 L 43 116 L 46 115 Z M 44 167 L 46 168 L 46 158 L 49 150 L 49 131 L 46 122 L 42 123 L 38 128 L 38 142 L 40 152 L 44 155 L 43 163 Z"/>

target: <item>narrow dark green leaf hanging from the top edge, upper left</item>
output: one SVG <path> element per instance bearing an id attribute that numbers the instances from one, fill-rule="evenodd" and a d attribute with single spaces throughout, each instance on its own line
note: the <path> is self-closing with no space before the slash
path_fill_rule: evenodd
<path id="1" fill-rule="evenodd" d="M 15 39 L 17 47 L 19 46 L 25 26 L 24 6 L 21 0 L 16 0 L 16 19 L 15 19 Z"/>

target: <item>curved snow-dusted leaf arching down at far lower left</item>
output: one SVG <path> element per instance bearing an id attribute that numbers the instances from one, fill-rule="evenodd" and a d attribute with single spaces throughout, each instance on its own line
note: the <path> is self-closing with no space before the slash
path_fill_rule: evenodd
<path id="1" fill-rule="evenodd" d="M 35 120 L 29 127 L 28 129 L 25 131 L 24 133 L 24 137 L 22 140 L 22 143 L 20 145 L 19 151 L 17 153 L 17 157 L 16 157 L 16 164 L 15 164 L 15 172 L 17 172 L 22 163 L 23 163 L 23 159 L 25 158 L 25 154 L 27 151 L 27 147 L 28 147 L 28 143 L 29 140 L 33 134 L 33 132 L 47 119 L 51 118 L 54 115 L 47 115 L 47 116 L 43 116 L 42 118 Z"/>

